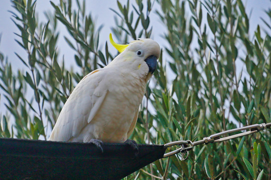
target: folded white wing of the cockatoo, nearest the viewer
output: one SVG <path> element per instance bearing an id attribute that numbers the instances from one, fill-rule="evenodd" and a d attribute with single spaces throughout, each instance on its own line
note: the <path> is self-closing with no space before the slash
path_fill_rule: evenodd
<path id="1" fill-rule="evenodd" d="M 49 140 L 68 141 L 78 135 L 99 110 L 107 89 L 101 69 L 90 72 L 74 88 L 64 104 Z"/>

